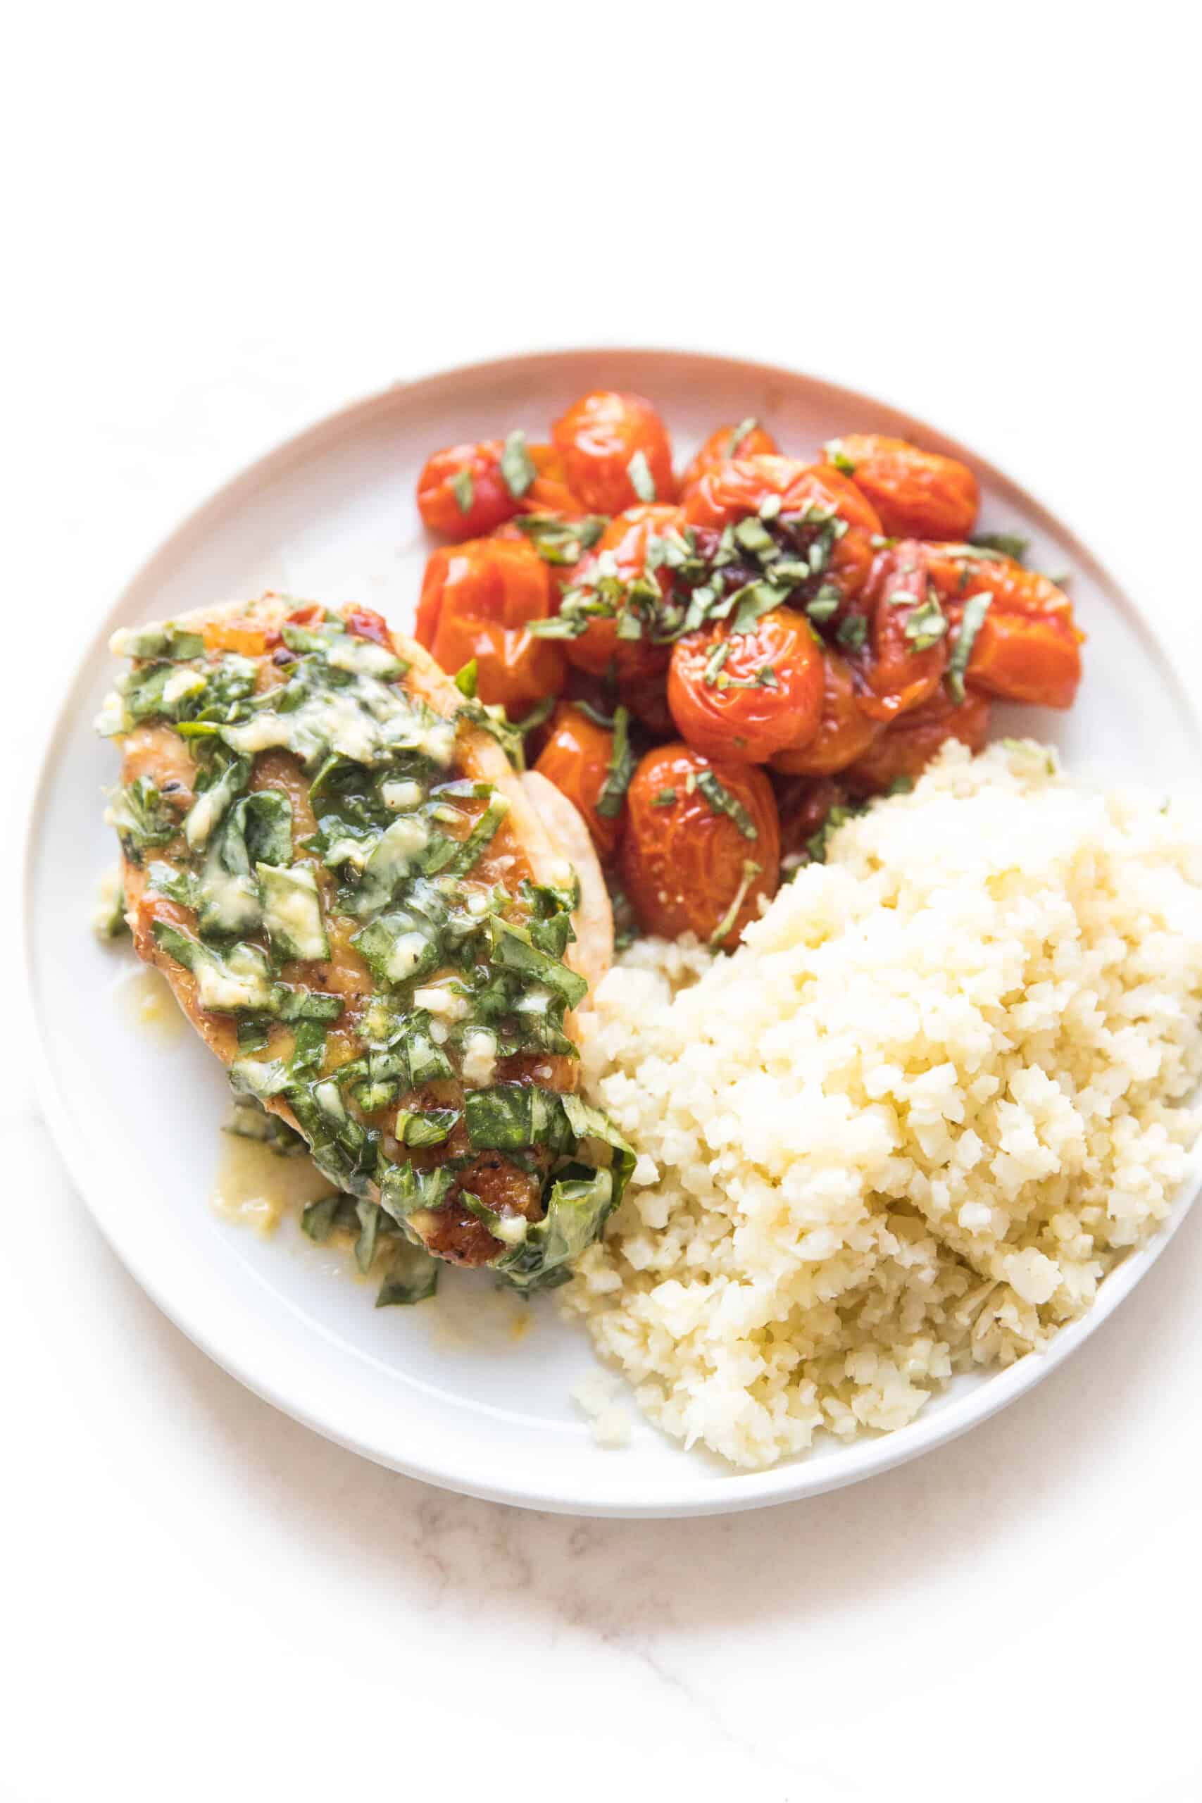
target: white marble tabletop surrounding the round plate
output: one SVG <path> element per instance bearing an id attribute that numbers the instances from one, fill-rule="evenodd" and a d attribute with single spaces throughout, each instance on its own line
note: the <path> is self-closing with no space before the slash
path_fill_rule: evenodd
<path id="1" fill-rule="evenodd" d="M 1175 13 L 566 11 L 25 16 L 9 846 L 52 651 L 155 537 L 348 395 L 494 350 L 676 341 L 876 389 L 1045 494 L 1197 658 Z M 1202 1796 L 1202 1215 L 1079 1359 L 917 1466 L 571 1522 L 378 1471 L 225 1377 L 94 1231 L 20 1033 L 0 1060 L 5 1799 Z"/>

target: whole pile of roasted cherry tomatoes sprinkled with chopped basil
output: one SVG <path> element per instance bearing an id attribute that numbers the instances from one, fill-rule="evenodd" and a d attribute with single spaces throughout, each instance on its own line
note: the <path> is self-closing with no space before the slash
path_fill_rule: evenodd
<path id="1" fill-rule="evenodd" d="M 1072 604 L 971 543 L 977 508 L 955 458 L 874 433 L 786 456 L 753 418 L 678 478 L 654 406 L 596 391 L 546 444 L 429 458 L 418 510 L 451 543 L 416 636 L 539 710 L 535 768 L 643 930 L 733 947 L 833 810 L 980 750 L 991 698 L 1072 705 Z"/>

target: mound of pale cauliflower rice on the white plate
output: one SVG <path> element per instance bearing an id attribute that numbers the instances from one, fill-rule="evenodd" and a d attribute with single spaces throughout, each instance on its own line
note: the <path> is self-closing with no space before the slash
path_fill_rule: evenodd
<path id="1" fill-rule="evenodd" d="M 1043 1347 L 1198 1129 L 1202 826 L 946 746 L 730 957 L 636 943 L 586 1087 L 640 1152 L 562 1291 L 647 1415 L 755 1469 Z"/>

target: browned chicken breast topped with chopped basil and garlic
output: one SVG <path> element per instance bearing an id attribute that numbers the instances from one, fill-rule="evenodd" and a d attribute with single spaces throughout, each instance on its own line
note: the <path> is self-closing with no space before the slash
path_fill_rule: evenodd
<path id="1" fill-rule="evenodd" d="M 265 595 L 114 649 L 139 957 L 393 1249 L 382 1300 L 429 1255 L 560 1282 L 633 1165 L 575 1094 L 613 918 L 571 804 L 366 609 Z"/>

